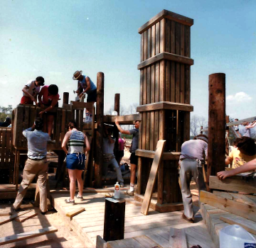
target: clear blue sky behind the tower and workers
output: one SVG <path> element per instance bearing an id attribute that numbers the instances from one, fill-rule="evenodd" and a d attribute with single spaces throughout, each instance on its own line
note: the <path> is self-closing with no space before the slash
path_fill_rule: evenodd
<path id="1" fill-rule="evenodd" d="M 193 18 L 191 104 L 208 118 L 208 75 L 226 74 L 227 114 L 256 115 L 255 0 L 0 0 L 0 106 L 16 106 L 30 79 L 75 98 L 73 73 L 105 73 L 105 111 L 139 103 L 138 28 L 163 9 Z"/>

